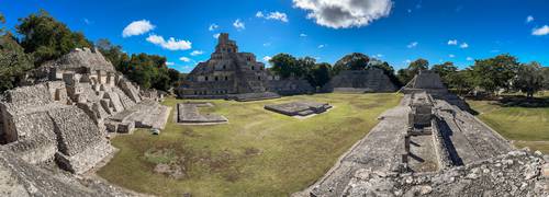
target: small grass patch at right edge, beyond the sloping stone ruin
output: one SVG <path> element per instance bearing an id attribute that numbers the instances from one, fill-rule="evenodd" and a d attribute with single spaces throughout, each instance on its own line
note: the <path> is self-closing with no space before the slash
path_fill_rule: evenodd
<path id="1" fill-rule="evenodd" d="M 547 92 L 538 96 L 549 96 Z M 549 153 L 549 107 L 504 107 L 493 101 L 468 101 L 478 117 L 518 148 Z"/>

